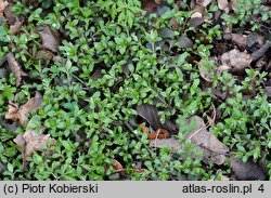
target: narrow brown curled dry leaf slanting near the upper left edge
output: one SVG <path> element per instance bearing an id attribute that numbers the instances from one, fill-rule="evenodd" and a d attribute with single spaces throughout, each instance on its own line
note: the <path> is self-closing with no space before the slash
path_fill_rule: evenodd
<path id="1" fill-rule="evenodd" d="M 9 63 L 9 67 L 11 68 L 12 72 L 14 72 L 16 77 L 16 87 L 20 87 L 22 77 L 27 77 L 27 74 L 25 74 L 21 69 L 20 64 L 16 62 L 13 53 L 9 52 L 7 54 L 7 61 Z"/>

